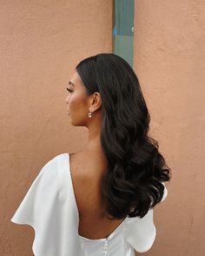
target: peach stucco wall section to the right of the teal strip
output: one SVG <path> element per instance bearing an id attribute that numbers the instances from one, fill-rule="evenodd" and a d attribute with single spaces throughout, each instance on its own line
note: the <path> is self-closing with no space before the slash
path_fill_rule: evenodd
<path id="1" fill-rule="evenodd" d="M 205 255 L 205 1 L 136 1 L 135 70 L 172 169 L 150 256 Z M 154 136 L 153 136 L 154 137 Z"/>

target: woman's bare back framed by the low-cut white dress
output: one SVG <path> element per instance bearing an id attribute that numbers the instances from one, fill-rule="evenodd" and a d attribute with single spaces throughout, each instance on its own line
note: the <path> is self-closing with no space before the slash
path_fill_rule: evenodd
<path id="1" fill-rule="evenodd" d="M 78 233 L 88 239 L 102 239 L 114 232 L 124 219 L 109 220 L 100 185 L 107 163 L 101 155 L 88 152 L 69 154 L 76 204 L 80 216 Z"/>

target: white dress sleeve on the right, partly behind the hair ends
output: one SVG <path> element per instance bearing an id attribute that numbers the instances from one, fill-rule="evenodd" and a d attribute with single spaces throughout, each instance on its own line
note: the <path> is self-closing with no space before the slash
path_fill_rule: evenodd
<path id="1" fill-rule="evenodd" d="M 164 183 L 162 183 L 164 185 Z M 166 199 L 168 191 L 164 185 L 164 193 L 161 202 Z M 125 226 L 125 240 L 136 252 L 145 253 L 155 241 L 155 224 L 153 221 L 153 209 L 141 219 L 139 217 L 130 218 Z"/>

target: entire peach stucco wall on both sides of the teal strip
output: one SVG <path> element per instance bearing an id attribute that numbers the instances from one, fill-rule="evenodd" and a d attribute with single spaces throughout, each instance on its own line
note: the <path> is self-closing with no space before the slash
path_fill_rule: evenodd
<path id="1" fill-rule="evenodd" d="M 171 167 L 169 197 L 155 207 L 157 236 L 143 255 L 205 254 L 205 4 L 136 1 L 134 69 L 150 133 Z M 0 0 L 0 255 L 32 255 L 34 231 L 10 218 L 37 173 L 76 152 L 87 130 L 69 124 L 65 84 L 83 57 L 112 51 L 112 1 Z"/>

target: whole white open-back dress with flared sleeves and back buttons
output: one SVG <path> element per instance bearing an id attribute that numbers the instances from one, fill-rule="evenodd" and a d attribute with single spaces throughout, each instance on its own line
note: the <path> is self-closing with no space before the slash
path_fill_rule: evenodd
<path id="1" fill-rule="evenodd" d="M 167 193 L 165 187 L 162 200 Z M 57 155 L 43 166 L 10 220 L 34 228 L 35 256 L 135 256 L 135 250 L 147 252 L 155 240 L 153 209 L 142 219 L 127 217 L 108 238 L 79 235 L 69 153 Z"/>

